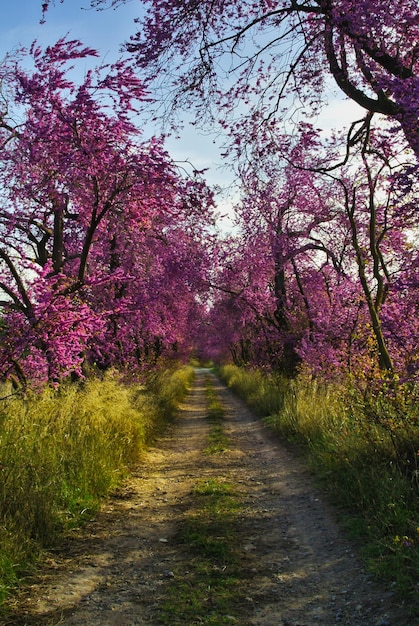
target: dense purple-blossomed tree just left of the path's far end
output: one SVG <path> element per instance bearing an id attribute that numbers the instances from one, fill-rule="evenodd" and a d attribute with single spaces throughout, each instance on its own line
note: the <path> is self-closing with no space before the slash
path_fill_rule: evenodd
<path id="1" fill-rule="evenodd" d="M 174 170 L 151 192 L 159 211 L 148 227 L 139 229 L 118 215 L 109 250 L 94 251 L 95 264 L 104 268 L 94 299 L 109 318 L 107 352 L 103 343 L 96 346 L 101 365 L 135 371 L 169 348 L 184 356 L 194 347 L 212 264 L 212 195 L 198 179 L 179 179 Z"/>

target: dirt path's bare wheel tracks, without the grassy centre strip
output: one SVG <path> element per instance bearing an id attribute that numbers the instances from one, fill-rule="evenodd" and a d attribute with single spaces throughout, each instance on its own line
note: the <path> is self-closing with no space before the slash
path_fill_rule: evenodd
<path id="1" fill-rule="evenodd" d="M 199 479 L 222 476 L 237 485 L 244 504 L 238 543 L 243 580 L 251 584 L 239 614 L 236 607 L 220 624 L 414 626 L 407 608 L 363 571 L 300 461 L 215 378 L 230 443 L 223 453 L 203 453 L 205 376 L 197 371 L 176 426 L 89 527 L 50 559 L 5 624 L 160 624 L 162 602 L 179 575 L 173 572 L 188 570 L 187 546 L 173 538 L 191 490 Z"/>

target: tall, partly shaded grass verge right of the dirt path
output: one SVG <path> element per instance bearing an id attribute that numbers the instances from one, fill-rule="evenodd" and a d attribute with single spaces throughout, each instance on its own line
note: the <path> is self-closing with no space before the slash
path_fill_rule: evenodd
<path id="1" fill-rule="evenodd" d="M 288 381 L 222 368 L 221 377 L 307 462 L 381 580 L 414 601 L 419 588 L 417 389 Z M 263 379 L 263 384 L 259 382 Z M 391 391 L 391 392 L 390 392 Z"/>

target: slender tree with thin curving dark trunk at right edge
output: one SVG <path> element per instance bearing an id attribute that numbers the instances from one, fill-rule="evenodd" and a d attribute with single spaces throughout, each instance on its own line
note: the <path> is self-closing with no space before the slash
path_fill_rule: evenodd
<path id="1" fill-rule="evenodd" d="M 340 219 L 350 233 L 347 263 L 356 267 L 368 311 L 364 324 L 372 330 L 378 366 L 381 371 L 406 373 L 417 362 L 417 351 L 400 351 L 401 345 L 397 346 L 390 329 L 392 315 L 397 309 L 396 315 L 403 315 L 403 303 L 415 297 L 415 291 L 409 294 L 402 284 L 416 266 L 417 249 L 412 245 L 412 236 L 418 228 L 417 178 L 411 155 L 393 129 L 383 125 L 374 128 L 371 118 L 360 124 L 358 129 L 352 125 L 343 161 L 339 162 L 337 153 L 333 158 L 329 151 L 328 166 L 322 155 L 323 165 L 316 166 L 314 157 L 309 169 L 336 186 L 334 212 L 341 213 Z M 298 162 L 294 166 L 299 167 Z M 416 335 L 415 324 L 411 332 Z M 401 352 L 404 354 L 400 359 Z"/>

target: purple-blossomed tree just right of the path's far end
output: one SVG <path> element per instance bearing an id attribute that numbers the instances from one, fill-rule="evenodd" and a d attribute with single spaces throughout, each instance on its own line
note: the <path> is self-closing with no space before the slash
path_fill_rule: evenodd
<path id="1" fill-rule="evenodd" d="M 289 375 L 301 361 L 302 339 L 313 336 L 321 314 L 325 319 L 330 291 L 344 276 L 348 229 L 337 237 L 331 185 L 315 175 L 276 158 L 259 160 L 242 177 L 240 238 L 220 276 L 214 318 L 230 308 L 236 360 L 268 362 Z"/>

